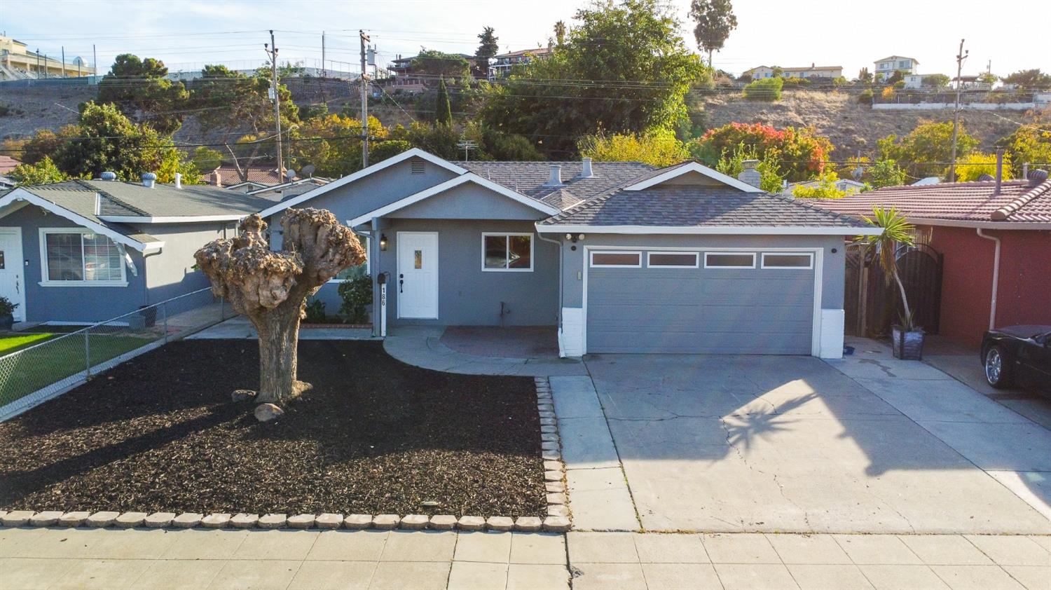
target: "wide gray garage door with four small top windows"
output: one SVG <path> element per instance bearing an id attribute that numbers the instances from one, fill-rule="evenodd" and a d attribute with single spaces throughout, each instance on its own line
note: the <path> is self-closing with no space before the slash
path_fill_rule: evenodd
<path id="1" fill-rule="evenodd" d="M 810 354 L 812 253 L 635 253 L 590 252 L 589 353 Z"/>

